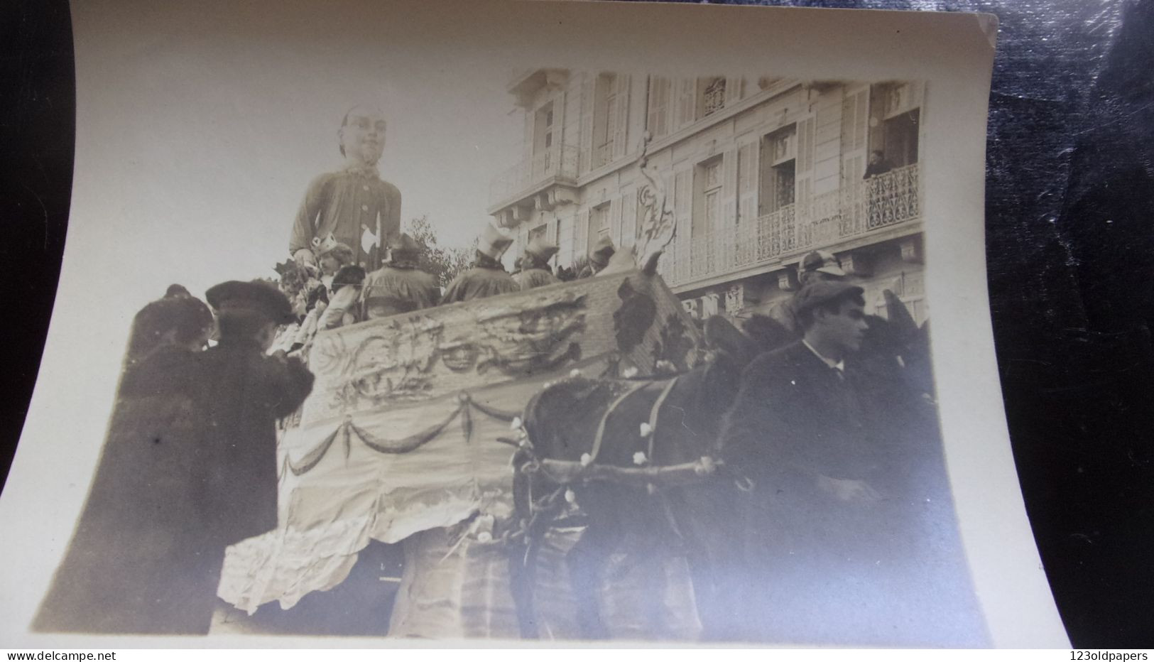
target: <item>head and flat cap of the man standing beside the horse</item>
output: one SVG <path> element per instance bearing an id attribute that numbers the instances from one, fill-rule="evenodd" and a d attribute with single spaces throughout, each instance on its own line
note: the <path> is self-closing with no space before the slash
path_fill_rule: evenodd
<path id="1" fill-rule="evenodd" d="M 794 309 L 807 339 L 856 352 L 869 324 L 862 288 L 837 280 L 817 280 L 797 292 Z"/>

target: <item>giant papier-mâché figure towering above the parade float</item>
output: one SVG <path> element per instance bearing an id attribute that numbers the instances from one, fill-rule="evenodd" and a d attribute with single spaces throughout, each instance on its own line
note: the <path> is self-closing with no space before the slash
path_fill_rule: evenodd
<path id="1" fill-rule="evenodd" d="M 345 166 L 308 185 L 288 240 L 297 262 L 314 262 L 315 242 L 331 234 L 352 247 L 354 264 L 380 265 L 384 238 L 400 232 L 400 191 L 376 170 L 384 133 L 384 118 L 375 108 L 355 106 L 345 115 L 338 133 Z"/>

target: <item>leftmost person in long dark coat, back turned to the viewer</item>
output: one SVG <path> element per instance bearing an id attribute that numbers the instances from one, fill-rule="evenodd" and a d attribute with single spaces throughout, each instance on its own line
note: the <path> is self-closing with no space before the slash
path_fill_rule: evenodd
<path id="1" fill-rule="evenodd" d="M 195 393 L 211 328 L 208 307 L 190 295 L 136 315 L 92 487 L 33 629 L 208 631 L 216 582 L 205 578 L 219 573 L 223 548 L 209 542 Z"/>

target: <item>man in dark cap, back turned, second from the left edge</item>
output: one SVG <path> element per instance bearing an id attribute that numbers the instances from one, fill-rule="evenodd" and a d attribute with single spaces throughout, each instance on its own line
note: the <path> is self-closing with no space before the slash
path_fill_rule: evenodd
<path id="1" fill-rule="evenodd" d="M 265 354 L 277 325 L 293 318 L 276 287 L 230 280 L 205 295 L 220 332 L 200 355 L 205 507 L 217 555 L 205 580 L 215 590 L 224 548 L 277 526 L 276 421 L 305 401 L 313 374 L 283 352 Z"/>

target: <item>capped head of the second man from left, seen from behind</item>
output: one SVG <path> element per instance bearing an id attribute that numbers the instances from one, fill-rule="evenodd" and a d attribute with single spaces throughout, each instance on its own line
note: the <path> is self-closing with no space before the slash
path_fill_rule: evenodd
<path id="1" fill-rule="evenodd" d="M 228 280 L 209 288 L 204 298 L 217 311 L 222 340 L 255 340 L 268 349 L 277 325 L 294 321 L 288 299 L 265 283 Z"/>

